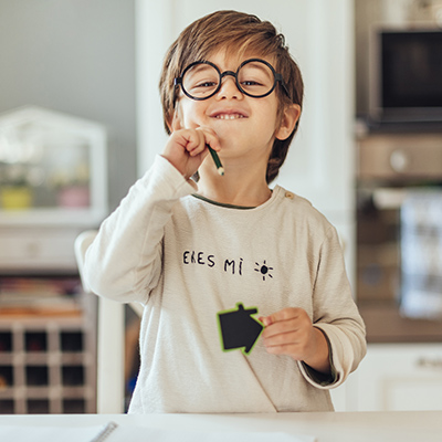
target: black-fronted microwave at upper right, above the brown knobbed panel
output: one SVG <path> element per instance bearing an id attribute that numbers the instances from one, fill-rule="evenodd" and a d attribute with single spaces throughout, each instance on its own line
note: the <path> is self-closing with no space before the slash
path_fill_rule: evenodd
<path id="1" fill-rule="evenodd" d="M 442 29 L 373 29 L 369 112 L 376 122 L 442 122 Z"/>

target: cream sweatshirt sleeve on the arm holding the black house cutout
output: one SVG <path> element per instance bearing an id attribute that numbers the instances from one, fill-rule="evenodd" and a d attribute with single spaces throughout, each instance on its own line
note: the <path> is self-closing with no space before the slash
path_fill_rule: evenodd
<path id="1" fill-rule="evenodd" d="M 352 299 L 345 271 L 344 256 L 335 228 L 322 244 L 313 294 L 314 326 L 326 336 L 332 377 L 320 381 L 303 362 L 305 379 L 317 388 L 340 386 L 356 370 L 367 351 L 366 328 Z"/>

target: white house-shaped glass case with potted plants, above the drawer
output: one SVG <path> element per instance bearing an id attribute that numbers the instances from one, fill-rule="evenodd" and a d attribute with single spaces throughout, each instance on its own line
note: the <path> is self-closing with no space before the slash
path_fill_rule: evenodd
<path id="1" fill-rule="evenodd" d="M 0 115 L 0 225 L 95 225 L 106 161 L 101 124 L 36 106 Z"/>

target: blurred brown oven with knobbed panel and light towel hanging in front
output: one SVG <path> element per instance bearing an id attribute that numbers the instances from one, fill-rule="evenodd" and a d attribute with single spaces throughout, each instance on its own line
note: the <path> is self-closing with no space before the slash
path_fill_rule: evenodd
<path id="1" fill-rule="evenodd" d="M 370 134 L 357 149 L 357 298 L 442 317 L 442 133 Z"/>

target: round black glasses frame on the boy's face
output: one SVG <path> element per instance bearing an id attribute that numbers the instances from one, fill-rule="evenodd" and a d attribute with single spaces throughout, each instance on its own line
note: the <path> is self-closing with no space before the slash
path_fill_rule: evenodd
<path id="1" fill-rule="evenodd" d="M 273 86 L 272 86 L 272 88 L 271 88 L 269 92 L 266 92 L 265 94 L 262 94 L 262 95 L 252 95 L 252 94 L 248 93 L 246 91 L 244 91 L 244 90 L 242 88 L 240 82 L 238 81 L 238 74 L 239 74 L 241 67 L 244 66 L 244 64 L 252 63 L 252 62 L 264 63 L 264 64 L 272 71 L 272 73 L 273 73 L 273 77 L 274 77 Z M 218 74 L 219 74 L 219 76 L 220 76 L 220 81 L 219 81 L 219 83 L 218 83 L 217 88 L 215 88 L 210 95 L 204 96 L 204 97 L 194 97 L 194 96 L 190 95 L 190 94 L 186 91 L 186 88 L 185 88 L 185 86 L 183 86 L 183 84 L 182 84 L 182 78 L 185 77 L 186 73 L 187 73 L 190 69 L 192 69 L 193 66 L 196 66 L 196 65 L 198 65 L 198 64 L 208 64 L 208 65 L 214 67 L 214 70 L 218 72 Z M 191 98 L 191 99 L 196 99 L 196 101 L 200 102 L 200 101 L 208 99 L 208 98 L 212 97 L 213 95 L 215 95 L 215 94 L 220 91 L 220 88 L 221 88 L 222 78 L 223 78 L 224 76 L 227 76 L 227 75 L 233 76 L 234 80 L 235 80 L 235 84 L 236 84 L 236 87 L 239 88 L 239 91 L 241 91 L 241 93 L 243 93 L 243 94 L 245 94 L 245 95 L 248 95 L 248 96 L 250 96 L 250 97 L 253 97 L 253 98 L 263 98 L 263 97 L 270 95 L 270 94 L 275 90 L 277 83 L 281 84 L 281 86 L 283 87 L 283 91 L 284 91 L 285 94 L 290 97 L 290 93 L 288 93 L 288 90 L 287 90 L 287 86 L 286 86 L 286 84 L 285 84 L 285 82 L 284 82 L 283 76 L 282 76 L 281 74 L 276 73 L 276 71 L 274 70 L 274 67 L 273 67 L 269 62 L 266 62 L 265 60 L 261 60 L 261 59 L 249 59 L 249 60 L 245 60 L 244 62 L 242 62 L 242 63 L 240 64 L 240 66 L 238 67 L 236 72 L 233 72 L 233 71 L 224 71 L 224 72 L 221 72 L 220 69 L 219 69 L 215 64 L 213 64 L 213 63 L 211 63 L 211 62 L 209 62 L 209 61 L 198 61 L 198 62 L 193 62 L 193 63 L 189 64 L 189 65 L 185 69 L 185 71 L 182 71 L 182 74 L 181 74 L 179 77 L 176 77 L 176 78 L 173 80 L 173 85 L 175 85 L 175 86 L 179 86 L 179 85 L 180 85 L 180 86 L 181 86 L 181 90 L 182 90 L 182 92 L 185 93 L 186 96 L 188 96 L 188 97 Z"/>

